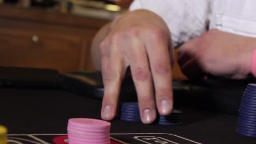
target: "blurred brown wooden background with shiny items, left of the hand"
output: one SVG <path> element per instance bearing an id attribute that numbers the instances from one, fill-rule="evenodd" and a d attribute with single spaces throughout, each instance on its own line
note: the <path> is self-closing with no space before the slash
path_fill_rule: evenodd
<path id="1" fill-rule="evenodd" d="M 94 70 L 90 45 L 132 0 L 0 0 L 0 66 Z M 183 79 L 176 64 L 177 79 Z"/>

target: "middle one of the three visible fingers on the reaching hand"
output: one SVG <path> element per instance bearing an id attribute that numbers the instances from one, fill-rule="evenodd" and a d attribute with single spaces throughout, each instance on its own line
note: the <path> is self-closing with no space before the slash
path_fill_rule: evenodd
<path id="1" fill-rule="evenodd" d="M 156 118 L 152 76 L 149 70 L 147 52 L 143 44 L 131 38 L 127 45 L 127 57 L 130 61 L 132 79 L 138 95 L 139 111 L 143 123 L 152 123 Z"/>

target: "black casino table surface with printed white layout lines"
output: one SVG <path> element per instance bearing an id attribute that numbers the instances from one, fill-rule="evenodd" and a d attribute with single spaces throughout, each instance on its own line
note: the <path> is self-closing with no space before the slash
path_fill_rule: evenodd
<path id="1" fill-rule="evenodd" d="M 90 96 L 60 87 L 2 86 L 0 124 L 8 128 L 9 143 L 67 143 L 69 118 L 100 119 L 101 99 Z M 182 93 L 174 92 L 174 97 L 187 101 Z M 253 137 L 236 134 L 234 113 L 187 103 L 175 106 L 183 111 L 183 124 L 176 127 L 115 118 L 110 121 L 112 143 L 256 143 Z"/>

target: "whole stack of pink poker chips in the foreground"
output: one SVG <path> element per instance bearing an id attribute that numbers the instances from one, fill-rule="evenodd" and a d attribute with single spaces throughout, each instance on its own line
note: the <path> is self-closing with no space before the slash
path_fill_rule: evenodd
<path id="1" fill-rule="evenodd" d="M 71 118 L 68 120 L 69 144 L 109 144 L 110 123 L 100 119 Z"/>

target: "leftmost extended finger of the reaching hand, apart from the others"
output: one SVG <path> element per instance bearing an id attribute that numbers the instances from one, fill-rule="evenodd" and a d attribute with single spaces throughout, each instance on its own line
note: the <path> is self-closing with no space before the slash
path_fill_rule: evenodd
<path id="1" fill-rule="evenodd" d="M 111 120 L 115 117 L 123 76 L 123 58 L 117 47 L 112 45 L 109 57 L 102 57 L 102 77 L 104 83 L 104 96 L 101 109 L 102 119 Z"/>

